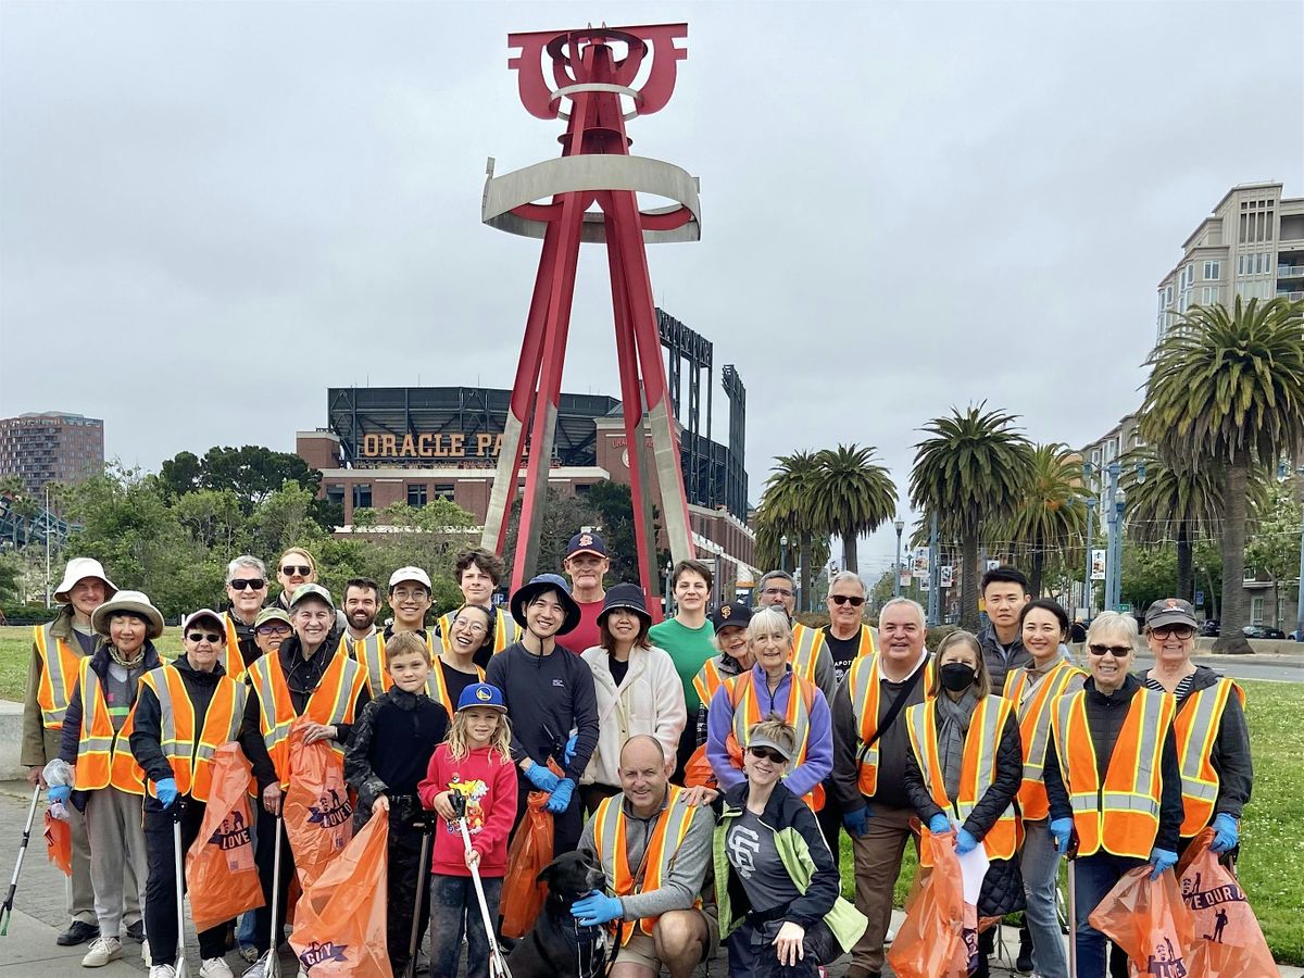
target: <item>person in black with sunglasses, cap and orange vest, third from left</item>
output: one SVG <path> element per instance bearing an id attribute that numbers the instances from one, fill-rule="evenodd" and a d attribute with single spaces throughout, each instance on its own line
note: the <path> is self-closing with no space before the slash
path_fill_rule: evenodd
<path id="1" fill-rule="evenodd" d="M 185 655 L 141 679 L 132 730 L 132 754 L 145 769 L 145 932 L 150 978 L 172 978 L 176 961 L 176 862 L 173 814 L 181 824 L 181 850 L 200 835 L 209 801 L 213 754 L 233 741 L 244 717 L 248 687 L 231 678 L 218 659 L 226 627 L 202 608 L 181 625 Z M 180 806 L 180 810 L 177 810 Z M 201 978 L 230 978 L 223 961 L 227 925 L 200 932 Z"/>

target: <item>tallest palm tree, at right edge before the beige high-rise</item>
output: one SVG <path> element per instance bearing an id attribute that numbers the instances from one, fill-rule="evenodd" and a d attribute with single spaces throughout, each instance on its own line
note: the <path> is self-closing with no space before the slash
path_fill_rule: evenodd
<path id="1" fill-rule="evenodd" d="M 1304 303 L 1236 297 L 1196 306 L 1146 364 L 1141 434 L 1179 469 L 1224 469 L 1222 638 L 1245 625 L 1245 519 L 1251 472 L 1304 445 Z"/>

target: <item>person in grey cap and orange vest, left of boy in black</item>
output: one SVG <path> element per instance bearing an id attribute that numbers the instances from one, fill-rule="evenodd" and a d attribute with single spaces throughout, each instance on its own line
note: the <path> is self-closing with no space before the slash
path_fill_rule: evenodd
<path id="1" fill-rule="evenodd" d="M 275 653 L 257 660 L 248 672 L 249 699 L 240 728 L 240 746 L 258 781 L 258 831 L 254 861 L 266 904 L 254 913 L 257 975 L 267 966 L 269 948 L 279 948 L 286 934 L 286 895 L 295 876 L 295 855 L 280 825 L 280 892 L 276 921 L 271 919 L 271 882 L 276 855 L 280 803 L 293 772 L 289 769 L 289 728 L 300 716 L 312 720 L 305 743 L 326 741 L 340 758 L 356 717 L 370 702 L 366 670 L 349 657 L 339 640 L 335 602 L 321 584 L 300 584 L 289 602 L 295 634 Z M 275 935 L 275 941 L 273 941 Z"/>

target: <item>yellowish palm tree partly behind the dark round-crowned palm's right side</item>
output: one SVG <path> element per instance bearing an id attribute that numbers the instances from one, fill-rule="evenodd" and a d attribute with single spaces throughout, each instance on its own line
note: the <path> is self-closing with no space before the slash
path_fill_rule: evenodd
<path id="1" fill-rule="evenodd" d="M 1085 535 L 1091 492 L 1082 485 L 1081 458 L 1061 442 L 1033 449 L 1031 476 L 1022 489 L 1015 515 L 1000 528 L 1004 539 L 1031 548 L 1035 597 L 1042 593 L 1047 550 L 1061 552 Z"/>

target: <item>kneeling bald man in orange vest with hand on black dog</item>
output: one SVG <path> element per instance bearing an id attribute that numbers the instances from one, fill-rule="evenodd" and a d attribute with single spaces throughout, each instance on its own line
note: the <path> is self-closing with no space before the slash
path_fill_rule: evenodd
<path id="1" fill-rule="evenodd" d="M 687 978 L 720 944 L 705 883 L 715 818 L 668 782 L 674 758 L 651 735 L 621 748 L 621 794 L 597 806 L 580 849 L 592 852 L 615 896 L 592 893 L 574 906 L 584 927 L 615 925 L 612 978 Z M 703 891 L 707 900 L 703 900 Z"/>

